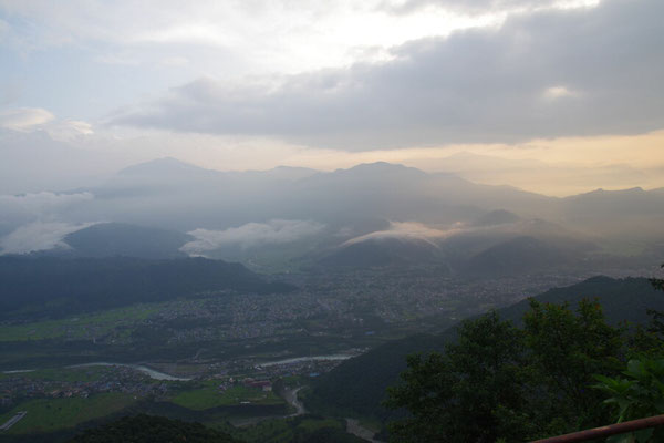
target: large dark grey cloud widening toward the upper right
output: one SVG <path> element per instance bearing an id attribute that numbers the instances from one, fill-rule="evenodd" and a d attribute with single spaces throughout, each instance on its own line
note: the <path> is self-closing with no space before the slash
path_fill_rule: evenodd
<path id="1" fill-rule="evenodd" d="M 111 123 L 349 151 L 664 127 L 664 2 L 520 14 L 394 60 L 230 87 L 203 79 Z"/>

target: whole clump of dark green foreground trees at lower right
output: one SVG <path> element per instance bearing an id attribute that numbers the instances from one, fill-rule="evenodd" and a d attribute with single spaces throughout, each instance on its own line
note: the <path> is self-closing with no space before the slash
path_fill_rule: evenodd
<path id="1" fill-rule="evenodd" d="M 411 415 L 391 431 L 400 442 L 518 442 L 605 424 L 590 385 L 619 373 L 625 332 L 587 300 L 575 312 L 531 300 L 522 329 L 496 312 L 465 321 L 445 354 L 408 358 L 386 404 Z"/>

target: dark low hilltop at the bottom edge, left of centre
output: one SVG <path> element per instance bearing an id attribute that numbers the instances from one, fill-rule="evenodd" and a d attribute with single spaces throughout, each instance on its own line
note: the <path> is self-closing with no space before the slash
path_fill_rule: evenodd
<path id="1" fill-rule="evenodd" d="M 163 416 L 125 416 L 104 426 L 87 430 L 69 443 L 236 443 L 230 435 L 204 426 Z"/>

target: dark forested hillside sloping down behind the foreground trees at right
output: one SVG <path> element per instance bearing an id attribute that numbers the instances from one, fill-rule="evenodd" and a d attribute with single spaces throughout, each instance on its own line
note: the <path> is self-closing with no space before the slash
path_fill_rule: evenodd
<path id="1" fill-rule="evenodd" d="M 646 308 L 664 310 L 664 295 L 655 291 L 645 278 L 612 279 L 594 277 L 580 284 L 556 288 L 537 297 L 542 302 L 570 302 L 596 298 L 611 322 L 623 320 L 645 323 Z M 499 310 L 504 319 L 519 323 L 528 310 L 528 300 Z M 406 369 L 406 356 L 442 351 L 454 340 L 456 328 L 439 336 L 414 336 L 391 341 L 360 357 L 350 359 L 320 378 L 309 398 L 310 408 L 320 408 L 385 420 L 390 412 L 381 406 L 387 387 L 398 381 Z"/>

